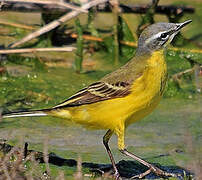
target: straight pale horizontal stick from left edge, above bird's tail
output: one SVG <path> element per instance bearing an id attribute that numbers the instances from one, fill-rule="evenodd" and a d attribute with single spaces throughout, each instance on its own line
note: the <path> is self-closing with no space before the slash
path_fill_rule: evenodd
<path id="1" fill-rule="evenodd" d="M 0 54 L 50 52 L 50 51 L 71 52 L 75 49 L 76 49 L 75 47 L 3 49 L 3 50 L 0 50 Z"/>

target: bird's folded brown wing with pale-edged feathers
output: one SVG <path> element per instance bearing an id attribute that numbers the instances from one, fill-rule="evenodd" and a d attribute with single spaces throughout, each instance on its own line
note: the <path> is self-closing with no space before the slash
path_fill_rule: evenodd
<path id="1" fill-rule="evenodd" d="M 92 104 L 108 99 L 124 97 L 129 93 L 130 84 L 126 82 L 117 82 L 115 84 L 96 82 L 80 90 L 75 95 L 71 96 L 66 101 L 55 106 L 54 108 L 74 107 L 85 104 Z"/>

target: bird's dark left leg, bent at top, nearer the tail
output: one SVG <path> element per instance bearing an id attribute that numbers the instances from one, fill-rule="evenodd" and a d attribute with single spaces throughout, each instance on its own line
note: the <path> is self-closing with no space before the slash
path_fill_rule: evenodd
<path id="1" fill-rule="evenodd" d="M 116 163 L 114 161 L 112 152 L 111 152 L 111 150 L 109 148 L 109 145 L 108 145 L 109 139 L 111 138 L 112 134 L 113 134 L 113 131 L 111 131 L 111 130 L 108 130 L 106 132 L 106 134 L 103 137 L 103 144 L 104 144 L 104 146 L 105 146 L 105 148 L 107 150 L 107 153 L 109 155 L 109 158 L 111 160 L 111 163 L 112 163 L 112 166 L 113 166 L 113 169 L 114 169 L 115 179 L 118 180 L 120 178 L 120 175 L 119 175 L 118 169 L 116 167 Z"/>

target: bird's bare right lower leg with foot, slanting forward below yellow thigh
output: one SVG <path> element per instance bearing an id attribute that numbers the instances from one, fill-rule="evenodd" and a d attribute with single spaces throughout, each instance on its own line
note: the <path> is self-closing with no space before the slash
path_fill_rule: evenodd
<path id="1" fill-rule="evenodd" d="M 178 176 L 178 175 L 173 174 L 173 173 L 168 173 L 168 172 L 162 171 L 161 169 L 159 169 L 159 168 L 155 167 L 154 165 L 144 161 L 143 159 L 139 158 L 138 156 L 128 152 L 126 149 L 123 149 L 120 151 L 121 151 L 121 153 L 125 154 L 126 156 L 133 158 L 134 160 L 140 162 L 141 164 L 143 164 L 149 168 L 149 170 L 147 170 L 146 172 L 139 174 L 137 176 L 134 176 L 133 178 L 143 178 L 144 176 L 146 176 L 150 172 L 153 172 L 157 176 L 160 176 L 160 177 L 177 177 Z"/>

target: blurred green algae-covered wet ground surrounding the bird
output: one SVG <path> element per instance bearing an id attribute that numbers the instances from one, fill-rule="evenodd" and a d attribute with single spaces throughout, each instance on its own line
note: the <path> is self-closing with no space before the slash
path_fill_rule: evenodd
<path id="1" fill-rule="evenodd" d="M 148 1 L 120 1 L 124 4 L 148 4 Z M 173 75 L 202 64 L 202 2 L 200 0 L 168 0 L 160 1 L 159 5 L 189 5 L 195 8 L 194 14 L 185 14 L 180 21 L 192 19 L 192 23 L 182 30 L 186 39 L 179 50 L 169 48 L 166 53 L 168 64 L 168 86 L 158 108 L 142 121 L 131 125 L 126 132 L 128 149 L 140 157 L 161 165 L 177 165 L 191 170 L 196 174 L 201 165 L 201 74 L 187 73 L 175 81 Z M 136 40 L 136 29 L 143 15 L 122 14 L 128 28 Z M 87 15 L 79 16 L 82 26 L 87 23 Z M 107 19 L 107 21 L 106 21 Z M 0 20 L 16 22 L 40 27 L 40 13 L 0 12 Z M 75 27 L 74 20 L 68 26 Z M 155 22 L 168 19 L 164 15 L 155 15 Z M 105 31 L 112 30 L 113 17 L 111 13 L 96 13 L 94 27 Z M 0 24 L 0 44 L 8 44 L 30 33 L 28 30 L 4 26 Z M 100 34 L 101 37 L 106 34 Z M 50 46 L 47 36 L 40 40 L 32 40 L 28 46 Z M 112 41 L 109 39 L 109 41 Z M 107 40 L 106 40 L 106 43 Z M 110 42 L 111 43 L 111 42 Z M 74 42 L 76 45 L 76 42 Z M 95 47 L 93 51 L 89 47 Z M 102 47 L 105 47 L 102 48 Z M 185 48 L 186 51 L 181 51 Z M 113 71 L 130 59 L 121 57 L 114 64 L 110 49 L 97 42 L 84 41 L 83 71 L 78 74 L 74 65 L 74 52 L 36 52 L 32 54 L 9 55 L 1 61 L 6 69 L 0 74 L 0 108 L 4 112 L 23 109 L 40 109 L 54 106 L 64 101 L 70 95 L 90 83 L 99 80 L 105 74 Z M 188 60 L 187 60 L 188 59 Z M 190 63 L 190 59 L 192 60 Z M 195 72 L 195 71 L 194 71 Z M 0 138 L 9 140 L 11 144 L 19 141 L 28 142 L 29 148 L 42 151 L 43 144 L 48 139 L 48 151 L 64 158 L 77 159 L 81 156 L 83 162 L 109 163 L 102 145 L 105 131 L 88 131 L 78 126 L 65 127 L 63 120 L 52 117 L 33 117 L 6 119 L 0 123 Z M 22 140 L 23 139 L 23 140 Z M 123 157 L 116 144 L 116 138 L 110 141 L 110 146 L 116 161 L 127 159 Z M 166 155 L 155 158 L 159 155 Z M 51 166 L 54 176 L 57 169 L 66 174 L 74 173 L 76 168 Z M 71 174 L 69 173 L 69 174 Z M 71 175 L 70 175 L 71 177 Z"/>

